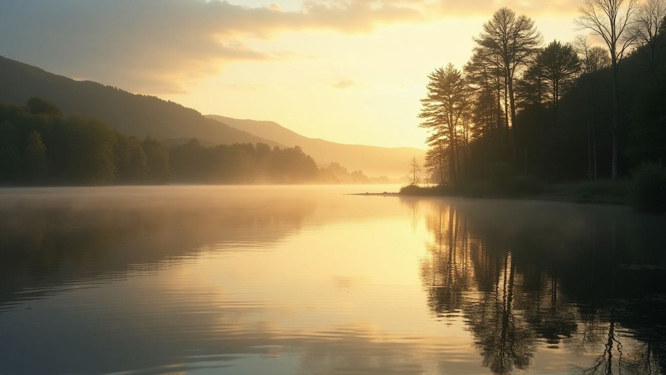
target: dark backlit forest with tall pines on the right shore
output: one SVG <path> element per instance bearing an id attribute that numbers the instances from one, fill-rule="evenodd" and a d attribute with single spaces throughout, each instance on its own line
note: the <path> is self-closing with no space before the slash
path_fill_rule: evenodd
<path id="1" fill-rule="evenodd" d="M 665 17 L 661 0 L 588 0 L 589 37 L 544 43 L 529 17 L 496 11 L 462 69 L 429 76 L 430 181 L 617 180 L 646 163 L 663 180 Z"/>

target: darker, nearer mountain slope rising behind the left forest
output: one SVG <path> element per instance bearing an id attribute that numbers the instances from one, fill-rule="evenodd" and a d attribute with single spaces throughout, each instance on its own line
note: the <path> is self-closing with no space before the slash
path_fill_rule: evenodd
<path id="1" fill-rule="evenodd" d="M 196 137 L 215 144 L 278 143 L 203 117 L 194 109 L 92 81 L 75 81 L 0 56 L 0 103 L 24 105 L 29 97 L 55 103 L 65 115 L 97 117 L 127 135 L 157 139 Z"/>

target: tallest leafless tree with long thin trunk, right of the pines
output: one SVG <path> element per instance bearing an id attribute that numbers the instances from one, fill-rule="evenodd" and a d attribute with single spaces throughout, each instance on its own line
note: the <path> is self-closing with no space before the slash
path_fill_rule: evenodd
<path id="1" fill-rule="evenodd" d="M 625 52 L 634 43 L 635 33 L 631 32 L 635 22 L 635 13 L 639 8 L 638 0 L 585 0 L 578 8 L 580 16 L 576 20 L 580 29 L 590 30 L 599 35 L 611 53 L 613 69 L 613 161 L 611 177 L 617 179 L 617 127 L 619 126 L 619 103 L 617 88 L 617 68 Z"/>

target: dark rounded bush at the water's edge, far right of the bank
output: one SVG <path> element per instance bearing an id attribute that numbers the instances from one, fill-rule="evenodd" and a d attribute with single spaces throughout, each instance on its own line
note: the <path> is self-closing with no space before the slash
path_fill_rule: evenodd
<path id="1" fill-rule="evenodd" d="M 666 168 L 661 163 L 645 163 L 632 171 L 631 203 L 638 210 L 666 211 Z"/>

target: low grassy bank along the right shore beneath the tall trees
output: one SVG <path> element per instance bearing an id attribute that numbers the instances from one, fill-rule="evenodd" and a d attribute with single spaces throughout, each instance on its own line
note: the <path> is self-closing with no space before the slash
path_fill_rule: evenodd
<path id="1" fill-rule="evenodd" d="M 638 210 L 666 211 L 666 169 L 646 165 L 631 180 L 600 180 L 548 185 L 529 177 L 421 187 L 409 185 L 401 195 L 525 198 L 561 202 L 631 205 Z"/>

